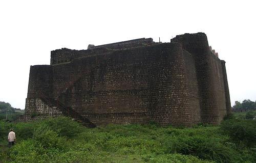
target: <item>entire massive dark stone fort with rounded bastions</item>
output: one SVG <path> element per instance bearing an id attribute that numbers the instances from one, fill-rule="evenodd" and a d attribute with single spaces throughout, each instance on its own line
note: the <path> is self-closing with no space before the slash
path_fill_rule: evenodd
<path id="1" fill-rule="evenodd" d="M 225 61 L 196 33 L 51 51 L 50 65 L 30 67 L 24 120 L 191 126 L 230 112 Z"/>

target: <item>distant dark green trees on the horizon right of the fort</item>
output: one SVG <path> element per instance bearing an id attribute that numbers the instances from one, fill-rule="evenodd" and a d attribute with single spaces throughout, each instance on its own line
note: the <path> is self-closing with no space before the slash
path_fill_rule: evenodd
<path id="1" fill-rule="evenodd" d="M 256 110 L 256 101 L 243 100 L 243 102 L 235 101 L 233 105 L 233 111 L 249 111 Z"/>

